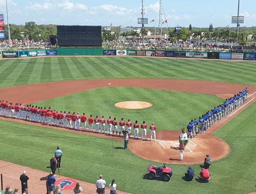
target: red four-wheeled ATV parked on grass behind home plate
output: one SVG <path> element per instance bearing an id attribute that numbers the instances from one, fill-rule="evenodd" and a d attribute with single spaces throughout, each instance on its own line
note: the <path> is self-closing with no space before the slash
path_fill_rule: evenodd
<path id="1" fill-rule="evenodd" d="M 172 167 L 166 166 L 165 164 L 163 164 L 161 167 L 150 164 L 148 165 L 147 170 L 149 171 L 148 178 L 150 180 L 154 179 L 155 177 L 160 177 L 164 181 L 169 181 L 172 177 Z"/>

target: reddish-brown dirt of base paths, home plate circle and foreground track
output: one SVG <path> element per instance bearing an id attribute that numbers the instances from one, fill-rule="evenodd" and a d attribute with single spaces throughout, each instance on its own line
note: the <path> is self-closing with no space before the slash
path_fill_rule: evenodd
<path id="1" fill-rule="evenodd" d="M 109 84 L 111 83 L 111 84 Z M 68 87 L 70 86 L 70 87 Z M 226 116 L 221 119 L 220 122 L 214 124 L 212 127 L 207 130 L 206 133 L 199 134 L 195 138 L 192 139 L 192 142 L 189 142 L 188 149 L 185 150 L 184 160 L 180 161 L 179 151 L 176 146 L 178 143 L 178 136 L 180 134 L 180 130 L 177 131 L 157 131 L 157 141 L 142 141 L 141 139 L 129 140 L 129 149 L 137 156 L 140 156 L 144 159 L 157 161 L 157 162 L 165 162 L 171 164 L 198 164 L 204 161 L 204 157 L 206 153 L 212 157 L 212 160 L 218 160 L 222 157 L 226 156 L 230 148 L 226 142 L 221 139 L 215 138 L 212 134 L 217 131 L 220 127 L 225 125 L 230 119 L 233 119 L 236 115 L 238 115 L 242 110 L 256 101 L 254 94 L 256 92 L 256 87 L 253 86 L 245 86 L 242 84 L 229 84 L 223 82 L 213 82 L 213 81 L 196 81 L 196 80 L 180 80 L 180 79 L 149 79 L 149 78 L 134 78 L 134 79 L 94 79 L 94 80 L 76 80 L 76 81 L 60 81 L 60 82 L 49 82 L 49 83 L 41 83 L 41 84 L 29 84 L 8 88 L 0 88 L 1 98 L 4 100 L 8 100 L 9 102 L 22 103 L 22 104 L 33 104 L 37 101 L 42 101 L 50 98 L 55 98 L 59 96 L 64 96 L 72 93 L 78 93 L 85 90 L 90 90 L 99 87 L 118 87 L 118 86 L 127 86 L 127 87 L 142 87 L 142 88 L 152 88 L 152 89 L 160 89 L 160 90 L 175 90 L 182 92 L 191 92 L 191 93 L 204 93 L 204 94 L 213 94 L 217 95 L 221 98 L 229 98 L 234 94 L 239 93 L 245 87 L 249 90 L 249 98 L 247 103 L 243 106 L 239 107 L 232 114 Z M 33 96 L 30 96 L 29 93 L 33 91 Z M 42 95 L 42 91 L 47 91 L 47 95 Z M 131 99 L 132 100 L 132 99 Z M 29 123 L 31 125 L 40 125 L 44 127 L 49 127 L 48 125 L 42 125 L 37 123 L 30 123 L 27 121 L 21 121 L 16 119 L 6 119 L 0 117 L 0 119 L 4 120 L 12 120 L 14 122 L 22 122 Z M 148 123 L 149 124 L 149 123 Z M 52 127 L 52 126 L 51 126 Z M 81 132 L 75 130 L 68 130 L 61 127 L 52 127 L 58 128 L 59 130 L 72 131 L 73 133 L 83 133 L 93 136 L 102 136 L 104 138 L 110 139 L 118 139 L 123 141 L 122 137 L 104 135 L 99 133 L 88 133 Z M 150 138 L 150 133 L 147 134 Z M 150 145 L 150 146 L 148 146 Z M 147 148 L 147 149 L 143 149 Z M 212 149 L 214 148 L 214 149 Z M 8 162 L 0 162 L 0 167 L 6 170 L 6 174 L 8 174 L 9 181 L 5 183 L 11 184 L 13 181 L 17 181 L 18 185 L 20 185 L 19 175 L 23 170 L 26 170 L 27 167 L 9 164 Z M 10 169 L 9 169 L 10 168 Z M 1 170 L 2 170 L 1 169 Z M 36 174 L 38 177 L 35 177 L 37 180 L 37 185 L 42 187 L 41 189 L 45 190 L 45 181 L 42 185 L 38 185 L 38 180 L 41 180 L 40 177 L 47 176 L 48 173 L 43 171 L 37 171 L 35 169 L 28 168 L 27 171 L 36 171 L 33 174 Z M 31 183 L 29 183 L 31 185 Z M 86 193 L 95 193 L 95 185 L 82 182 L 82 185 L 87 188 Z M 14 184 L 11 184 L 14 185 Z M 17 184 L 15 184 L 17 185 Z M 35 189 L 37 190 L 37 188 Z M 33 188 L 32 185 L 29 188 Z M 90 189 L 91 188 L 91 189 Z M 35 191 L 35 190 L 34 190 Z M 42 190 L 38 190 L 42 191 Z M 37 191 L 37 192 L 38 192 Z M 109 191 L 106 191 L 107 193 Z M 31 192 L 32 193 L 32 192 Z M 34 193 L 34 192 L 33 192 Z M 65 194 L 71 194 L 73 191 L 67 190 Z M 118 193 L 125 193 L 119 191 Z"/>

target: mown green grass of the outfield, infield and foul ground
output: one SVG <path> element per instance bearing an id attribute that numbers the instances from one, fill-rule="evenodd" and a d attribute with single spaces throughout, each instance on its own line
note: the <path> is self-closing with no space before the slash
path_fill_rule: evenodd
<path id="1" fill-rule="evenodd" d="M 3 76 L 0 77 L 0 87 L 87 78 L 144 77 L 199 79 L 255 85 L 254 69 L 255 62 L 182 59 L 177 63 L 177 61 L 170 58 L 67 57 L 2 60 L 0 73 Z M 107 109 L 116 101 L 114 96 L 121 99 L 120 101 L 124 101 L 138 90 L 145 90 L 146 93 L 150 93 L 149 89 L 127 87 L 118 87 L 119 95 L 117 93 L 114 95 L 113 91 L 108 93 L 108 90 L 113 89 L 103 88 L 109 98 L 106 101 L 104 101 L 105 95 L 98 95 Z M 127 89 L 131 90 L 128 94 L 126 94 Z M 120 93 L 125 93 L 125 95 L 120 95 Z M 130 117 L 134 115 L 134 112 L 129 112 L 130 110 L 120 111 L 113 109 L 100 112 L 102 110 L 94 103 L 86 104 L 85 107 L 75 105 L 85 104 L 86 99 L 93 99 L 94 97 L 91 96 L 96 94 L 99 94 L 98 89 L 42 101 L 38 102 L 38 104 L 50 104 L 52 107 L 67 110 L 73 107 L 74 110 L 86 113 L 91 110 L 88 111 L 88 114 L 89 112 L 101 113 L 105 117 L 109 114 L 111 116 L 114 114 L 126 114 Z M 163 99 L 159 107 L 153 106 L 151 107 L 152 110 L 150 108 L 142 110 L 136 118 L 141 114 L 145 114 L 145 112 L 150 114 L 157 112 L 154 117 L 161 117 L 164 113 L 168 116 L 169 122 L 169 119 L 172 119 L 174 115 L 173 110 L 166 110 L 167 106 L 173 106 L 173 104 L 169 104 L 170 101 L 177 102 L 175 99 L 180 98 L 180 96 L 186 96 L 184 99 L 193 100 L 191 110 L 187 110 L 188 108 L 184 106 L 186 111 L 177 113 L 180 116 L 178 118 L 180 120 L 178 122 L 176 120 L 170 122 L 174 123 L 173 128 L 176 128 L 175 126 L 177 125 L 180 126 L 180 122 L 185 124 L 194 115 L 204 113 L 221 100 L 215 96 L 161 90 L 157 90 L 157 95 Z M 197 96 L 196 99 L 195 96 Z M 113 101 L 111 101 L 112 98 L 114 98 Z M 148 98 L 151 101 L 157 100 L 155 96 L 138 96 L 138 100 L 143 98 Z M 210 100 L 207 101 L 207 98 L 210 98 Z M 60 101 L 63 102 L 67 99 L 69 103 L 61 104 Z M 167 102 L 164 102 L 165 99 L 167 99 Z M 184 99 L 179 99 L 183 101 L 175 109 L 179 110 L 179 106 L 183 106 Z M 200 105 L 199 99 L 204 102 L 204 106 Z M 160 108 L 160 113 L 154 108 Z M 132 116 L 129 115 L 130 113 Z M 146 177 L 144 175 L 147 173 L 146 167 L 149 163 L 161 164 L 141 159 L 129 150 L 119 149 L 123 147 L 123 142 L 1 120 L 0 155 L 1 159 L 8 162 L 49 171 L 46 168 L 49 165 L 49 159 L 56 145 L 59 145 L 64 152 L 62 161 L 62 167 L 64 168 L 61 169 L 61 174 L 77 180 L 95 183 L 99 174 L 103 174 L 107 183 L 110 183 L 114 178 L 118 184 L 118 189 L 137 194 L 177 194 L 184 192 L 191 194 L 203 192 L 212 194 L 248 193 L 254 191 L 256 174 L 256 136 L 253 123 L 255 114 L 256 104 L 254 103 L 215 133 L 215 136 L 226 141 L 231 149 L 230 154 L 225 158 L 212 163 L 212 168 L 210 168 L 210 173 L 212 174 L 211 182 L 206 184 L 198 183 L 195 180 L 192 182 L 182 180 L 181 177 L 186 172 L 188 165 L 169 164 L 174 168 L 173 176 L 169 182 L 143 179 L 143 177 Z M 114 156 L 111 156 L 112 154 Z M 66 168 L 67 166 L 68 168 Z M 200 171 L 199 165 L 191 165 L 191 167 L 195 169 L 195 173 L 198 175 Z"/>

